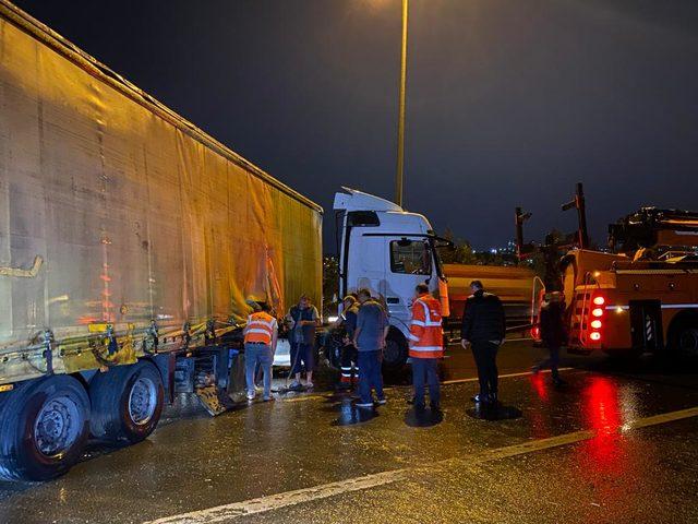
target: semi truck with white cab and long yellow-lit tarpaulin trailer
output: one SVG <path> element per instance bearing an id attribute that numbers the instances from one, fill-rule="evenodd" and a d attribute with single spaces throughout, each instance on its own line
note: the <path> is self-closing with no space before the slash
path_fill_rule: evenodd
<path id="1" fill-rule="evenodd" d="M 0 478 L 139 442 L 178 394 L 230 407 L 248 300 L 321 303 L 322 207 L 7 0 L 0 105 Z M 417 283 L 447 306 L 447 242 L 361 191 L 335 209 L 339 291 L 383 297 L 401 367 Z"/>

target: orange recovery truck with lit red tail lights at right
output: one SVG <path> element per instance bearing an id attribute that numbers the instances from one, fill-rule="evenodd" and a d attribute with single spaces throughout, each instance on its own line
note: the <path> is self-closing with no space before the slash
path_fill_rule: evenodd
<path id="1" fill-rule="evenodd" d="M 642 207 L 609 226 L 601 251 L 589 247 L 581 183 L 573 207 L 578 230 L 546 278 L 564 293 L 569 350 L 698 357 L 698 213 Z"/>

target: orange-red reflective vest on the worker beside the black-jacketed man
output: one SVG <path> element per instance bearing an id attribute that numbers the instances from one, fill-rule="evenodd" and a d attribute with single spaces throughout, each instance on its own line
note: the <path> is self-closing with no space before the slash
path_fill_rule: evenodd
<path id="1" fill-rule="evenodd" d="M 441 302 L 429 294 L 412 303 L 410 324 L 410 357 L 442 358 L 444 332 L 441 326 Z"/>

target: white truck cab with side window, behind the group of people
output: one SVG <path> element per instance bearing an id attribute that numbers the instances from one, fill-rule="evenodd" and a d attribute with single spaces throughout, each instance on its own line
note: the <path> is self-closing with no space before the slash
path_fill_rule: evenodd
<path id="1" fill-rule="evenodd" d="M 434 235 L 429 221 L 387 200 L 342 188 L 334 210 L 341 226 L 339 242 L 339 295 L 365 287 L 382 300 L 389 314 L 390 332 L 384 352 L 387 369 L 407 361 L 407 335 L 414 286 L 425 282 L 441 299 L 448 315 L 446 279 L 437 247 L 448 243 Z"/>

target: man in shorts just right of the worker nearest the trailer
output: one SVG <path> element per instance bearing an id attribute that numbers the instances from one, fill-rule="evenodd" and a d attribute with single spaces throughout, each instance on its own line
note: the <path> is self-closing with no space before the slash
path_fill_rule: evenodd
<path id="1" fill-rule="evenodd" d="M 320 326 L 320 313 L 310 301 L 308 295 L 301 295 L 298 305 L 293 306 L 286 315 L 291 333 L 291 374 L 296 376 L 289 386 L 291 390 L 301 388 L 301 372 L 305 371 L 305 386 L 313 388 L 313 368 L 315 366 L 315 331 Z"/>

